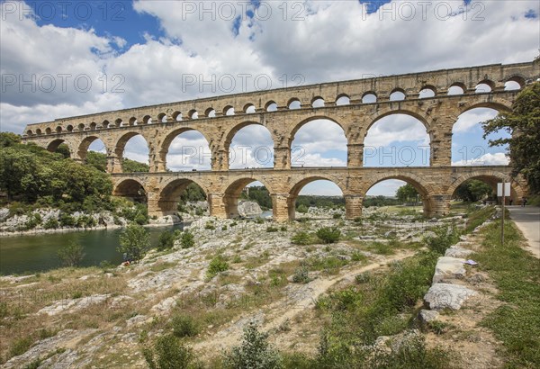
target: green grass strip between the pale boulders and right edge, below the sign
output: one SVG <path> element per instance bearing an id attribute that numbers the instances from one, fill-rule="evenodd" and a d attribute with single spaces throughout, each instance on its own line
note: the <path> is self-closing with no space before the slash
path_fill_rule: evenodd
<path id="1" fill-rule="evenodd" d="M 521 247 L 515 225 L 505 222 L 505 245 L 500 245 L 500 220 L 482 231 L 482 251 L 473 256 L 488 272 L 504 302 L 482 326 L 493 330 L 506 347 L 507 367 L 540 367 L 540 264 Z"/>

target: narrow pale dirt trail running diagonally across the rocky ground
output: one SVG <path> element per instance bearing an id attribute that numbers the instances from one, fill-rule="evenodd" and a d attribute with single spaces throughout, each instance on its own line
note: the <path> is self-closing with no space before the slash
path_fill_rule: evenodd
<path id="1" fill-rule="evenodd" d="M 338 282 L 354 278 L 360 273 L 373 271 L 388 263 L 412 257 L 413 255 L 414 252 L 412 251 L 403 251 L 367 266 L 358 266 L 353 269 L 348 269 L 343 274 L 335 275 L 328 279 L 317 278 L 309 284 L 303 284 L 301 288 L 290 293 L 287 299 L 263 306 L 258 311 L 252 312 L 231 322 L 227 327 L 220 329 L 220 331 L 211 338 L 194 344 L 193 348 L 195 351 L 201 353 L 216 353 L 222 349 L 236 346 L 241 340 L 242 329 L 248 321 L 262 320 L 262 330 L 265 331 L 276 329 L 282 325 L 284 321 L 293 320 L 293 318 L 302 311 L 312 309 L 319 296 L 322 293 L 326 293 L 330 287 L 338 284 Z"/>

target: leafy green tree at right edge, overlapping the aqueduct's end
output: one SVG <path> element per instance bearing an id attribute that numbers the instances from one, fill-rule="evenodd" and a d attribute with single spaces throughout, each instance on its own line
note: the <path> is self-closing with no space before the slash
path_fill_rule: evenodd
<path id="1" fill-rule="evenodd" d="M 511 112 L 482 123 L 484 139 L 506 130 L 509 139 L 492 139 L 490 146 L 509 145 L 512 175 L 523 175 L 534 193 L 540 193 L 540 82 L 527 86 L 518 94 Z"/>

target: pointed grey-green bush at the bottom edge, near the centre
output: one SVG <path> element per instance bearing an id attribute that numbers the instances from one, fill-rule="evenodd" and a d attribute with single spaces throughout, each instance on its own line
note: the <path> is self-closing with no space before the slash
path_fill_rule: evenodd
<path id="1" fill-rule="evenodd" d="M 255 322 L 247 323 L 242 343 L 223 357 L 223 366 L 229 369 L 282 368 L 282 357 L 268 343 L 268 334 L 259 332 Z"/>

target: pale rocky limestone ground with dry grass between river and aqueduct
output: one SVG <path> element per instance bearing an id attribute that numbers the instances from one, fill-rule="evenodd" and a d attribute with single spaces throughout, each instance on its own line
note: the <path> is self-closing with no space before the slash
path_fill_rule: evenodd
<path id="1" fill-rule="evenodd" d="M 464 224 L 460 215 L 421 221 L 365 211 L 359 222 L 334 214 L 342 211 L 311 209 L 303 215 L 310 220 L 286 225 L 202 217 L 189 227 L 194 247 L 153 250 L 136 265 L 1 277 L 2 367 L 32 362 L 40 368 L 147 367 L 142 347 L 170 330 L 169 320 L 178 314 L 202 322 L 189 341 L 202 359 L 238 345 L 250 320 L 275 332 L 271 339 L 277 347 L 314 353 L 320 326 L 313 306 L 322 293 L 410 257 L 433 227 Z M 292 244 L 295 232 L 322 226 L 338 226 L 342 240 Z M 390 252 L 381 247 L 391 239 L 405 246 Z M 218 255 L 229 269 L 209 276 Z M 293 283 L 302 266 L 309 266 L 311 282 Z"/>

